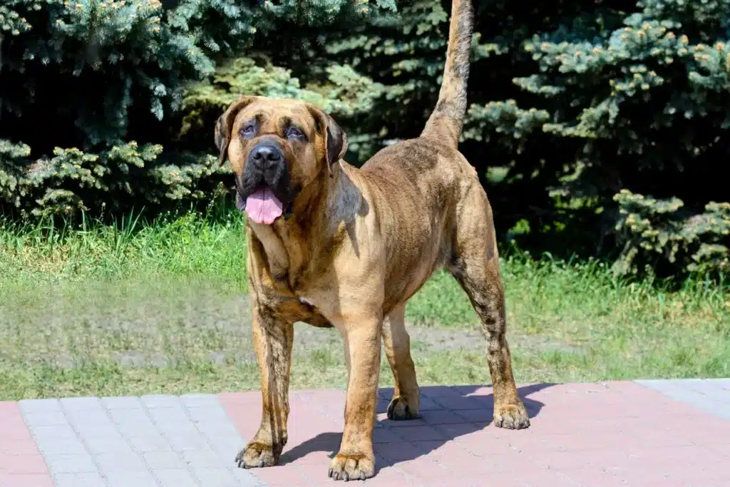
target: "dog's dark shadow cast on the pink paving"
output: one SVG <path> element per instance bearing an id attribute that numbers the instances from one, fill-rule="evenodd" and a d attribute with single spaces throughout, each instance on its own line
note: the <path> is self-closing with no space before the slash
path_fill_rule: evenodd
<path id="1" fill-rule="evenodd" d="M 541 383 L 518 389 L 530 418 L 536 417 L 545 404 L 530 399 L 529 395 L 550 386 L 553 384 Z M 420 392 L 420 418 L 377 421 L 373 432 L 377 470 L 426 456 L 451 440 L 484 429 L 492 421 L 493 395 L 472 395 L 478 392 L 477 386 L 426 386 L 421 387 Z M 392 394 L 392 388 L 378 391 L 377 413 L 380 417 L 386 412 Z M 413 426 L 415 428 L 411 429 Z M 285 452 L 280 465 L 317 451 L 328 452 L 333 457 L 339 450 L 340 440 L 342 432 L 320 433 Z"/>

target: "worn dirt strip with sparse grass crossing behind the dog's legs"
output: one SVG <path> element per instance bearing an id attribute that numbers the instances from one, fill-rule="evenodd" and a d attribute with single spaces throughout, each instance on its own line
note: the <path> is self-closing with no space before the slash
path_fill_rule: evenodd
<path id="1" fill-rule="evenodd" d="M 74 367 L 111 360 L 124 367 L 166 367 L 180 361 L 253 363 L 247 296 L 203 282 L 103 283 L 58 288 L 45 296 L 15 294 L 0 303 L 0 358 Z M 414 356 L 483 350 L 478 324 L 409 323 Z M 508 335 L 512 348 L 569 350 L 545 337 Z M 340 357 L 336 329 L 296 323 L 294 356 Z"/>

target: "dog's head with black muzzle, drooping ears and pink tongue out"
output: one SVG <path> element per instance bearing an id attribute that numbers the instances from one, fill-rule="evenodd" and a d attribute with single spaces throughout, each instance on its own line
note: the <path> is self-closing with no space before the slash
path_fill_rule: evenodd
<path id="1" fill-rule="evenodd" d="M 347 135 L 303 101 L 242 96 L 215 124 L 219 164 L 228 156 L 236 202 L 256 223 L 291 215 L 302 188 L 328 177 L 347 151 Z"/>

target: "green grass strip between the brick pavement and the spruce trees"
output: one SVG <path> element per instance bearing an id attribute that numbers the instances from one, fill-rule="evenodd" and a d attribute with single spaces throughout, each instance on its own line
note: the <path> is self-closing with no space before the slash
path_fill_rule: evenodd
<path id="1" fill-rule="evenodd" d="M 0 400 L 258 388 L 239 215 L 82 231 L 0 226 Z M 503 258 L 521 382 L 730 376 L 730 290 L 669 292 L 600 262 Z M 434 275 L 407 308 L 419 382 L 488 383 L 466 296 Z M 337 331 L 298 323 L 293 388 L 345 385 Z M 381 383 L 392 375 L 385 359 Z"/>

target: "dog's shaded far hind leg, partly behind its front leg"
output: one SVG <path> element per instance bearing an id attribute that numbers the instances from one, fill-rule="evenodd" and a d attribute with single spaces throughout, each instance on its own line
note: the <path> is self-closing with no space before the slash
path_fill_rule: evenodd
<path id="1" fill-rule="evenodd" d="M 420 391 L 410 355 L 410 337 L 405 325 L 406 305 L 400 304 L 383 321 L 383 347 L 391 364 L 395 390 L 388 405 L 388 419 L 418 418 Z"/>

